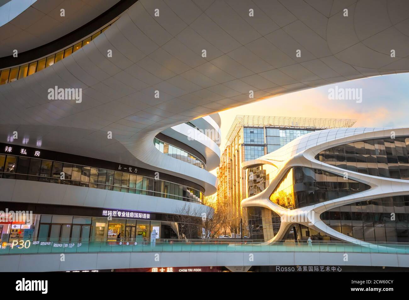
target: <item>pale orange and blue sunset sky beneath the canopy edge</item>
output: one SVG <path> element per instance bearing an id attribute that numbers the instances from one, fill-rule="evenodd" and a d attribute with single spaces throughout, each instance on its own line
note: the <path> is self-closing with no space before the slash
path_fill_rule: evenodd
<path id="1" fill-rule="evenodd" d="M 362 89 L 362 102 L 329 100 L 328 90 Z M 354 127 L 409 127 L 409 73 L 329 84 L 221 111 L 221 151 L 237 115 L 357 120 Z M 216 175 L 216 169 L 211 171 Z"/>

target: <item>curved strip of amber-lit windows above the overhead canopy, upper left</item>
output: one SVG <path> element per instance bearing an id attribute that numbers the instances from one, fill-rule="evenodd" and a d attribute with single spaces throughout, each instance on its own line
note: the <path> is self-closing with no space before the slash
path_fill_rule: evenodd
<path id="1" fill-rule="evenodd" d="M 52 55 L 50 55 L 48 57 L 41 58 L 41 59 L 36 60 L 34 62 L 21 64 L 21 65 L 16 66 L 16 67 L 1 70 L 0 85 L 19 80 L 21 78 L 25 78 L 25 77 L 27 77 L 27 76 L 29 76 L 31 74 L 34 74 L 34 73 L 36 73 L 38 71 L 41 71 L 41 70 L 43 70 L 43 69 L 45 69 L 47 67 L 52 66 L 56 62 L 62 60 L 63 58 L 66 58 L 67 56 L 70 56 L 75 51 L 77 51 L 80 48 L 84 47 L 86 44 L 89 44 L 90 41 L 94 40 L 94 38 L 96 38 L 101 33 L 106 31 L 106 29 L 108 29 L 108 27 L 110 27 L 111 24 L 109 24 L 108 26 L 104 27 L 103 29 L 97 31 L 92 36 L 88 36 L 87 38 L 84 38 L 83 40 L 80 40 L 79 42 L 77 42 L 73 46 L 66 47 L 66 48 L 62 49 L 61 51 L 58 51 L 57 53 L 54 53 L 54 54 L 52 54 Z"/>

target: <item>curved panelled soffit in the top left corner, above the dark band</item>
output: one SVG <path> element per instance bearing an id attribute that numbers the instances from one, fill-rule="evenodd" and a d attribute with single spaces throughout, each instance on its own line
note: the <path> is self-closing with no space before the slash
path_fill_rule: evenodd
<path id="1" fill-rule="evenodd" d="M 21 53 L 61 38 L 101 15 L 118 1 L 12 0 L 7 2 L 4 4 L 4 11 L 9 6 L 9 12 L 13 18 L 9 20 L 7 16 L 6 24 L 0 22 L 0 57 L 13 55 L 14 49 Z M 24 11 L 21 7 L 24 7 Z M 60 16 L 61 9 L 65 9 L 64 17 Z M 65 46 L 68 45 L 61 45 L 61 48 Z"/>

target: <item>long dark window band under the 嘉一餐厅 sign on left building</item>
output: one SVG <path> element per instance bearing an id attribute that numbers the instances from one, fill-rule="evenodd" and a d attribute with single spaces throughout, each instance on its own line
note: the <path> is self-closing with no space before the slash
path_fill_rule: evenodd
<path id="1" fill-rule="evenodd" d="M 64 173 L 64 179 L 61 179 L 61 173 Z M 201 191 L 170 181 L 25 156 L 0 154 L 0 178 L 76 185 L 196 203 L 204 199 Z"/>

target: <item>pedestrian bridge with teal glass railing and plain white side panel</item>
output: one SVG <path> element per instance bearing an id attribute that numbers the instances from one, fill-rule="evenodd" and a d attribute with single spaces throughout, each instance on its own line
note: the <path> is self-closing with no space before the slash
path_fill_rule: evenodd
<path id="1" fill-rule="evenodd" d="M 5 245 L 4 245 L 5 244 Z M 3 243 L 1 271 L 205 266 L 409 267 L 409 243 L 26 242 Z"/>

